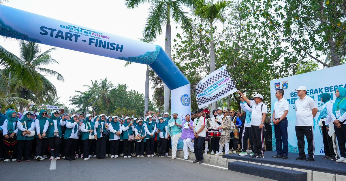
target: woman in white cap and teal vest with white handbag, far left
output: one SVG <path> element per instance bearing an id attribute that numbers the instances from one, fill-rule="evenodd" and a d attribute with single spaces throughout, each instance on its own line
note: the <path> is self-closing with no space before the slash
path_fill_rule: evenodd
<path id="1" fill-rule="evenodd" d="M 20 162 L 22 160 L 23 150 L 25 150 L 25 161 L 30 161 L 31 145 L 33 143 L 34 137 L 29 137 L 28 135 L 31 134 L 31 131 L 35 129 L 34 120 L 31 119 L 31 112 L 24 112 L 23 119 L 17 121 L 17 128 L 17 162 Z"/>

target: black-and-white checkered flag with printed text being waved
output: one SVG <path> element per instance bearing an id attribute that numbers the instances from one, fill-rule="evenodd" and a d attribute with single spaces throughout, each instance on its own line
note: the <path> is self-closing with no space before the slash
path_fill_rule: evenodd
<path id="1" fill-rule="evenodd" d="M 198 82 L 196 86 L 198 108 L 227 97 L 236 91 L 237 88 L 226 66 L 222 66 Z"/>

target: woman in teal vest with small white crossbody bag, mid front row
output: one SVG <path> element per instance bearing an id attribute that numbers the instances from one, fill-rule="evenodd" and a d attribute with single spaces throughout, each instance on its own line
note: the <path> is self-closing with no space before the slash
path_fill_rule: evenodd
<path id="1" fill-rule="evenodd" d="M 91 141 L 89 140 L 89 136 L 91 135 L 94 138 L 94 122 L 91 122 L 92 115 L 86 114 L 85 121 L 83 121 L 80 126 L 82 132 L 82 142 L 83 142 L 83 156 L 84 160 L 88 160 L 91 158 L 91 153 L 89 152 L 91 147 Z"/>

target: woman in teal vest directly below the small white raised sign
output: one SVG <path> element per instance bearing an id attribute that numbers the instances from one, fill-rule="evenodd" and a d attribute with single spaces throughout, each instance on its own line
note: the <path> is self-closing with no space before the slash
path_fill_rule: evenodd
<path id="1" fill-rule="evenodd" d="M 47 135 L 48 138 L 49 150 L 51 152 L 49 160 L 60 160 L 61 125 L 65 125 L 66 122 L 59 118 L 58 111 L 52 111 L 51 114 L 51 118 L 46 120 L 42 136 L 45 137 Z"/>

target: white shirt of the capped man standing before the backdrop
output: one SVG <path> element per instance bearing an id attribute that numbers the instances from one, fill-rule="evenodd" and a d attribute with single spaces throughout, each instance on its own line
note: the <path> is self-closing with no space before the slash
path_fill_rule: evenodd
<path id="1" fill-rule="evenodd" d="M 295 100 L 295 126 L 313 126 L 312 109 L 317 108 L 315 100 L 305 95 Z"/>

